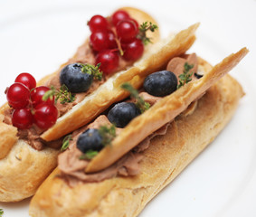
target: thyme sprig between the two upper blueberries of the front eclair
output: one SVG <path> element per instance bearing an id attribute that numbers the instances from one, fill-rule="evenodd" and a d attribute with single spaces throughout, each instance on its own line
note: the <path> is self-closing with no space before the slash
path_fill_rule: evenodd
<path id="1" fill-rule="evenodd" d="M 138 109 L 140 109 L 141 113 L 143 113 L 144 111 L 150 108 L 150 104 L 146 102 L 143 98 L 141 98 L 138 95 L 137 90 L 134 89 L 129 83 L 123 83 L 121 85 L 121 88 L 124 90 L 128 90 L 128 92 L 130 93 L 130 96 L 137 100 L 136 106 Z"/>

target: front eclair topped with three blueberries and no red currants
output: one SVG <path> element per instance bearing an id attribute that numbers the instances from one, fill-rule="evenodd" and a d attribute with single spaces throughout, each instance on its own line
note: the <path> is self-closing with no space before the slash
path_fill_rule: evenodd
<path id="1" fill-rule="evenodd" d="M 33 196 L 30 215 L 137 216 L 232 118 L 244 92 L 226 73 L 247 52 L 213 67 L 182 54 L 137 90 L 123 83 L 133 99 L 72 133 L 58 167 Z"/>

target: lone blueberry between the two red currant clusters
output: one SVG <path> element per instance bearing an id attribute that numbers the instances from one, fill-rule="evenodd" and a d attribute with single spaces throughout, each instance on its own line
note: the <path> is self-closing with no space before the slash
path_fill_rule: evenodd
<path id="1" fill-rule="evenodd" d="M 89 90 L 93 80 L 93 76 L 88 73 L 82 73 L 81 68 L 80 63 L 72 63 L 66 65 L 61 71 L 61 84 L 65 84 L 73 93 Z"/>

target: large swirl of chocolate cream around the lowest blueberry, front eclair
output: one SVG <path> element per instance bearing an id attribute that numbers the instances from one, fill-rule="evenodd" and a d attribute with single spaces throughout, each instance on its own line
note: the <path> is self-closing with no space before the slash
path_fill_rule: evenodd
<path id="1" fill-rule="evenodd" d="M 144 141 L 142 141 L 134 150 L 130 151 L 127 155 L 123 156 L 114 165 L 95 173 L 95 174 L 85 174 L 84 170 L 89 164 L 89 160 L 80 160 L 82 155 L 81 151 L 76 147 L 76 142 L 78 137 L 87 128 L 99 128 L 102 125 L 109 125 L 109 119 L 101 115 L 93 123 L 87 127 L 82 127 L 81 129 L 73 133 L 73 138 L 69 146 L 69 150 L 63 152 L 59 158 L 59 169 L 62 171 L 63 177 L 68 181 L 69 184 L 74 185 L 79 181 L 82 182 L 100 182 L 117 175 L 128 176 L 137 175 L 139 173 L 139 162 L 142 159 L 140 152 L 147 149 L 150 144 L 150 140 L 153 137 L 159 135 L 165 135 L 168 125 L 158 129 L 156 132 L 148 136 Z M 121 128 L 118 128 L 118 134 Z"/>

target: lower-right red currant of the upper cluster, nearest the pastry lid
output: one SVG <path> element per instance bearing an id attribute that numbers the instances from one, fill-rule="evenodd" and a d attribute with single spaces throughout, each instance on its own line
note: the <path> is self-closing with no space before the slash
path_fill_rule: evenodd
<path id="1" fill-rule="evenodd" d="M 127 61 L 137 61 L 144 52 L 144 45 L 141 40 L 134 39 L 132 42 L 122 44 L 124 55 L 123 58 Z"/>

